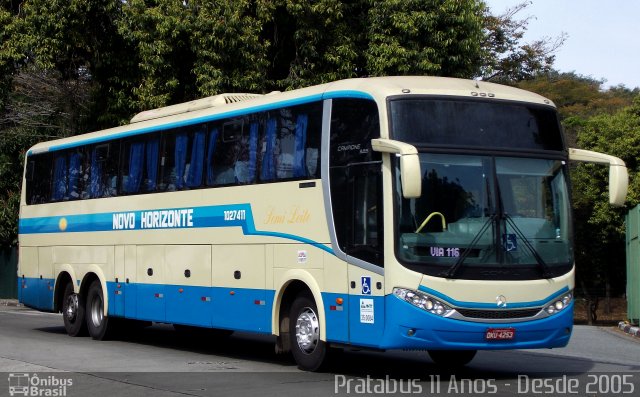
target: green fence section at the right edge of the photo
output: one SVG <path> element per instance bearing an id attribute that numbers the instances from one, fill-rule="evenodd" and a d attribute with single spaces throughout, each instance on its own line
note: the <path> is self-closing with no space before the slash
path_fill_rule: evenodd
<path id="1" fill-rule="evenodd" d="M 627 315 L 640 319 L 640 205 L 627 214 Z"/>

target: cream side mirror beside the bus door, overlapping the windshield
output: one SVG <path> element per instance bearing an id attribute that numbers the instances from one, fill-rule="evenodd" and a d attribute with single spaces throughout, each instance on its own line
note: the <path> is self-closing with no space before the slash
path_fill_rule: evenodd
<path id="1" fill-rule="evenodd" d="M 393 153 L 400 157 L 400 180 L 404 198 L 418 198 L 422 194 L 422 172 L 418 150 L 408 143 L 392 139 L 372 139 L 375 152 Z"/>

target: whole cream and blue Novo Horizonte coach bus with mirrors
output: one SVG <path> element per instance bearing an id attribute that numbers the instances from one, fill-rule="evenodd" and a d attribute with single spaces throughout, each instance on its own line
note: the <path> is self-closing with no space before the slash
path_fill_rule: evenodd
<path id="1" fill-rule="evenodd" d="M 554 104 L 483 81 L 379 77 L 221 94 L 26 154 L 19 299 L 71 336 L 136 321 L 331 347 L 565 346 L 570 160 Z M 130 321 L 127 321 L 130 320 Z M 223 332 L 224 333 L 224 332 Z"/>

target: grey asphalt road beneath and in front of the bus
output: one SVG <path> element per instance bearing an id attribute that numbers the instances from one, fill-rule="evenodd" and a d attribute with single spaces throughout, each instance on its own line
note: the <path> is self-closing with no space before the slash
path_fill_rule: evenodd
<path id="1" fill-rule="evenodd" d="M 576 326 L 564 349 L 481 351 L 455 372 L 424 352 L 345 351 L 330 372 L 307 373 L 274 353 L 272 337 L 184 337 L 156 324 L 100 342 L 67 336 L 60 314 L 0 306 L 0 396 L 16 385 L 66 396 L 639 395 L 640 341 Z"/>

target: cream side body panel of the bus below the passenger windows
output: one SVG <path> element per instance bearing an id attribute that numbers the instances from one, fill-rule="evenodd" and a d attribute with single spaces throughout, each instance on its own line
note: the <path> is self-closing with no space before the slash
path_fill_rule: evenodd
<path id="1" fill-rule="evenodd" d="M 130 283 L 139 284 L 273 290 L 274 267 L 305 266 L 320 272 L 324 267 L 324 251 L 287 238 L 302 237 L 320 245 L 329 241 L 326 216 L 324 211 L 318 211 L 324 208 L 321 184 L 317 181 L 316 187 L 302 189 L 299 184 L 280 183 L 278 194 L 271 198 L 272 187 L 253 185 L 25 206 L 23 219 L 53 216 L 69 220 L 64 230 L 55 233 L 21 235 L 21 249 L 27 254 L 22 257 L 20 272 L 27 278 L 40 276 L 37 265 L 29 266 L 32 261 L 28 254 L 37 252 L 33 250 L 40 244 L 39 250 L 56 252 L 55 260 L 40 258 L 40 266 L 68 271 L 78 281 L 87 274 L 89 266 L 97 267 L 101 270 L 95 273 L 103 287 L 115 279 L 120 283 L 129 279 Z M 196 208 L 211 203 L 217 206 L 248 203 L 255 228 L 277 236 L 245 235 L 239 226 L 69 232 L 73 219 L 66 217 Z M 304 262 L 300 259 L 301 252 Z M 153 270 L 152 276 L 149 269 Z M 185 277 L 187 269 L 190 277 Z M 240 279 L 234 278 L 236 271 L 241 273 Z M 58 274 L 59 271 L 49 277 L 55 280 Z M 74 282 L 76 291 L 78 281 Z M 108 301 L 106 298 L 105 306 Z"/>

